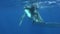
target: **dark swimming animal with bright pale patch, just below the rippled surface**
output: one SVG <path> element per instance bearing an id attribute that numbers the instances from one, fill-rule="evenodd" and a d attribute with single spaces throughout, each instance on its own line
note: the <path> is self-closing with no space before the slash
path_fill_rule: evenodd
<path id="1" fill-rule="evenodd" d="M 40 13 L 38 12 L 38 9 L 39 9 L 38 4 L 36 4 L 36 3 L 31 3 L 31 4 L 25 5 L 24 14 L 22 15 L 19 25 L 22 24 L 25 16 L 32 19 L 33 23 L 43 23 L 44 21 L 40 15 Z"/>

